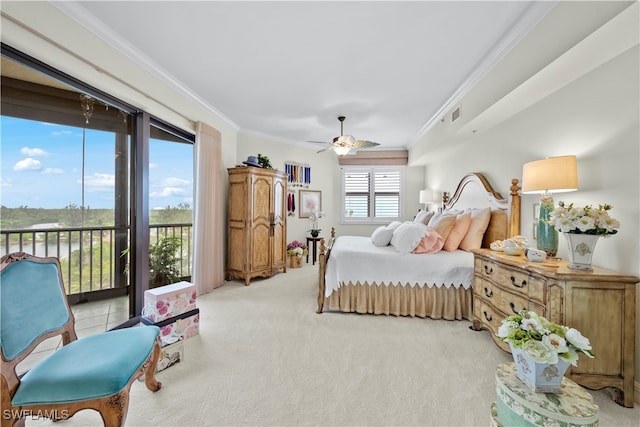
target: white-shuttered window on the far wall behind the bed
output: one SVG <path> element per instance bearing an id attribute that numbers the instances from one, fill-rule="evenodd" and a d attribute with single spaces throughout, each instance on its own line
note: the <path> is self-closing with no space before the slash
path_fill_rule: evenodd
<path id="1" fill-rule="evenodd" d="M 402 168 L 342 169 L 343 221 L 388 222 L 401 217 Z"/>

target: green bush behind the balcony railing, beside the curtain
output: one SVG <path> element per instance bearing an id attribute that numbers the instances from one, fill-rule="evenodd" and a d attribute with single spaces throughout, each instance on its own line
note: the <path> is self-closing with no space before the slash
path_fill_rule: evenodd
<path id="1" fill-rule="evenodd" d="M 149 247 L 149 288 L 175 283 L 180 278 L 180 239 L 164 237 Z"/>

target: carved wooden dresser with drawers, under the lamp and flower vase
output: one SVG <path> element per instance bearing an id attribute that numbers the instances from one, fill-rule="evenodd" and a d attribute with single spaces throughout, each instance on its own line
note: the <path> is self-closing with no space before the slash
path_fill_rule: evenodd
<path id="1" fill-rule="evenodd" d="M 594 267 L 572 270 L 567 261 L 528 262 L 489 249 L 474 251 L 474 330 L 496 336 L 502 320 L 526 309 L 552 322 L 573 327 L 589 338 L 595 359 L 580 356 L 567 371 L 573 381 L 590 389 L 613 387 L 614 400 L 633 406 L 635 292 L 637 277 Z"/>

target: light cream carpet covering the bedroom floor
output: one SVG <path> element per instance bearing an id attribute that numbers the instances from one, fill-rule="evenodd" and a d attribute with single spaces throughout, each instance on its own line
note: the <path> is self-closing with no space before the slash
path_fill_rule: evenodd
<path id="1" fill-rule="evenodd" d="M 198 297 L 185 360 L 134 384 L 128 426 L 486 426 L 495 369 L 511 355 L 468 321 L 316 314 L 317 266 Z M 591 392 L 600 425 L 638 426 Z M 27 425 L 53 425 L 27 420 Z M 83 411 L 57 427 L 101 425 Z"/>

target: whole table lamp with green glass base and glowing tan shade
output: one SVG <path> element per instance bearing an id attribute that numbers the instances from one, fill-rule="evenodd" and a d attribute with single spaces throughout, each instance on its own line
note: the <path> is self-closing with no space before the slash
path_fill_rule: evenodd
<path id="1" fill-rule="evenodd" d="M 558 252 L 558 232 L 548 223 L 554 202 L 551 193 L 578 189 L 578 165 L 576 156 L 547 157 L 525 163 L 522 167 L 522 193 L 542 194 L 537 224 L 537 247 L 548 256 Z"/>

